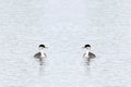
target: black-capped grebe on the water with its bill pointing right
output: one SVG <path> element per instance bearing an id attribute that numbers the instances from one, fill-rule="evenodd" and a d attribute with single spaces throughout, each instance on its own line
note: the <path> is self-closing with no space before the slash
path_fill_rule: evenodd
<path id="1" fill-rule="evenodd" d="M 36 53 L 34 58 L 39 59 L 41 61 L 44 58 L 47 58 L 46 53 L 44 53 L 44 49 L 47 47 L 45 45 L 39 45 L 38 48 L 39 48 L 39 52 Z"/>

